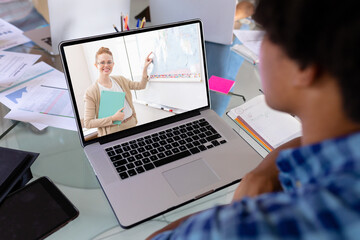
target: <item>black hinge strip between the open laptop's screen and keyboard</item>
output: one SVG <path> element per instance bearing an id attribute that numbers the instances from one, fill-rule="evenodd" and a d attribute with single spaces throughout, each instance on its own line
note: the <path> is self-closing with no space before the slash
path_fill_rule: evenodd
<path id="1" fill-rule="evenodd" d="M 148 124 L 144 124 L 141 126 L 138 126 L 136 128 L 130 128 L 121 132 L 117 132 L 117 133 L 113 133 L 109 136 L 106 136 L 104 139 L 99 140 L 100 144 L 106 144 L 124 137 L 128 137 L 134 134 L 138 134 L 141 132 L 145 132 L 154 128 L 158 128 L 167 124 L 171 124 L 174 122 L 178 122 L 190 117 L 194 117 L 194 116 L 198 116 L 200 115 L 200 111 L 199 110 L 194 110 L 194 111 L 190 111 L 190 112 L 186 112 L 180 115 L 176 115 L 176 116 L 172 116 L 172 117 L 168 117 L 166 119 L 161 119 L 161 120 L 157 120 L 155 122 L 151 122 Z"/>

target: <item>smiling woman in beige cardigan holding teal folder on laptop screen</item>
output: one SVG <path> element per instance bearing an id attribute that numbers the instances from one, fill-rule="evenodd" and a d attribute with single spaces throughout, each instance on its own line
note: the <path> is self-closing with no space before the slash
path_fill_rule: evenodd
<path id="1" fill-rule="evenodd" d="M 85 93 L 84 127 L 97 128 L 98 137 L 101 137 L 136 126 L 130 90 L 145 89 L 147 68 L 152 62 L 150 54 L 145 59 L 141 82 L 134 82 L 123 76 L 110 76 L 115 63 L 109 48 L 101 47 L 96 52 L 94 65 L 99 77 Z M 108 112 L 114 111 L 114 108 L 115 113 L 109 115 Z"/>

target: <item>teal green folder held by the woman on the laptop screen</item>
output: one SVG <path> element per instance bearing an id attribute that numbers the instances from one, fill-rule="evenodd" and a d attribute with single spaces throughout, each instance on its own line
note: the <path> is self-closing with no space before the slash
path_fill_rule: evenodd
<path id="1" fill-rule="evenodd" d="M 98 118 L 106 118 L 114 115 L 124 107 L 124 103 L 124 92 L 101 91 Z M 114 124 L 121 124 L 121 121 L 115 121 Z"/>

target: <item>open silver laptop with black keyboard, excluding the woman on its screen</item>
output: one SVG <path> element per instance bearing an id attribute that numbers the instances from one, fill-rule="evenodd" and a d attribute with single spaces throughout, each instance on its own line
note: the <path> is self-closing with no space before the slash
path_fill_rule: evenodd
<path id="1" fill-rule="evenodd" d="M 87 138 L 84 95 L 98 84 L 100 47 L 130 85 L 150 52 L 153 61 L 145 89 L 131 90 L 136 126 Z M 210 108 L 200 20 L 64 41 L 59 51 L 81 144 L 123 228 L 234 184 L 262 160 Z"/>

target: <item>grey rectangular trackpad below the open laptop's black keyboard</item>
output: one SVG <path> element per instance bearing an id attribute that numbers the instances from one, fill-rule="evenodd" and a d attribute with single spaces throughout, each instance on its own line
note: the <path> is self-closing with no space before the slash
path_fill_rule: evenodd
<path id="1" fill-rule="evenodd" d="M 163 175 L 179 197 L 220 180 L 202 159 L 163 172 Z"/>

